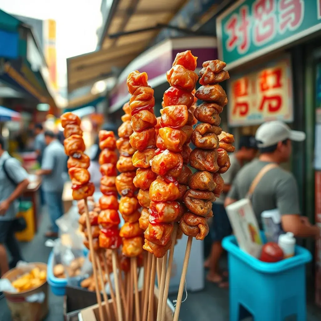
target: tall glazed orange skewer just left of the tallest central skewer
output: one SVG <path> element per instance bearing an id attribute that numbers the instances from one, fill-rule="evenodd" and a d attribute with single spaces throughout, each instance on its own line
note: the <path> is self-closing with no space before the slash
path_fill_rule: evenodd
<path id="1" fill-rule="evenodd" d="M 131 146 L 137 151 L 134 153 L 132 161 L 137 167 L 136 176 L 134 177 L 134 185 L 139 188 L 137 195 L 139 204 L 142 206 L 141 216 L 139 218 L 139 227 L 142 231 L 146 231 L 149 225 L 149 210 L 150 197 L 149 188 L 152 182 L 156 179 L 155 174 L 151 169 L 151 160 L 155 156 L 156 136 L 155 125 L 157 124 L 156 117 L 153 112 L 155 104 L 154 91 L 147 83 L 147 74 L 134 71 L 128 75 L 127 87 L 132 95 L 129 101 L 131 112 L 131 125 L 133 134 L 130 136 Z M 148 256 L 148 265 L 151 264 L 151 257 Z M 147 266 L 147 275 L 150 273 L 151 266 Z M 153 279 L 153 272 L 151 274 Z M 143 304 L 143 320 L 146 319 L 147 313 L 147 296 L 149 278 L 144 285 L 144 304 Z M 150 287 L 153 288 L 153 281 L 150 281 Z M 135 289 L 135 304 L 138 304 L 138 291 Z M 150 300 L 149 300 L 150 302 Z M 136 319 L 139 314 L 136 314 Z"/>

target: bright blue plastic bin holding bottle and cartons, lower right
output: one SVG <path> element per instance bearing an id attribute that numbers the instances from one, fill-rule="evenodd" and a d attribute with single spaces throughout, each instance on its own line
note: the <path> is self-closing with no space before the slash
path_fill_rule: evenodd
<path id="1" fill-rule="evenodd" d="M 224 238 L 222 246 L 229 259 L 230 321 L 241 320 L 246 310 L 255 321 L 292 315 L 306 320 L 305 264 L 312 260 L 307 249 L 296 246 L 295 256 L 265 263 L 241 250 L 235 236 Z"/>

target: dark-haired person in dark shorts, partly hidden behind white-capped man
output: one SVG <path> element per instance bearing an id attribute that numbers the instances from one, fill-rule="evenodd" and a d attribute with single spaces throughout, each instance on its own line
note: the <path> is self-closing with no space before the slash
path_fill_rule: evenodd
<path id="1" fill-rule="evenodd" d="M 219 260 L 223 253 L 221 241 L 224 237 L 229 236 L 232 233 L 232 227 L 224 208 L 224 200 L 241 167 L 245 162 L 253 160 L 256 157 L 256 154 L 257 147 L 255 137 L 250 135 L 241 136 L 238 151 L 229 155 L 231 162 L 229 170 L 226 173 L 221 174 L 224 180 L 222 194 L 216 199 L 212 206 L 214 214 L 210 232 L 212 248 L 210 256 L 205 261 L 204 266 L 209 268 L 209 272 L 206 276 L 207 280 L 217 283 L 221 287 L 224 287 L 227 284 L 226 282 L 222 282 L 223 276 L 219 271 Z"/>

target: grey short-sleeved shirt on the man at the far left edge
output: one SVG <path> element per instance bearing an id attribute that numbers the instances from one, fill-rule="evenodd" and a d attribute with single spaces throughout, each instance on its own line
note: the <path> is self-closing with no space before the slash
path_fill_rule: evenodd
<path id="1" fill-rule="evenodd" d="M 21 166 L 19 160 L 11 157 L 8 152 L 3 152 L 0 157 L 0 203 L 6 200 L 16 189 L 16 185 L 7 178 L 3 165 L 5 162 L 5 169 L 9 177 L 18 185 L 25 179 L 28 179 L 28 173 Z M 18 201 L 14 201 L 10 204 L 8 211 L 2 216 L 0 215 L 0 221 L 11 221 L 18 213 Z"/>

